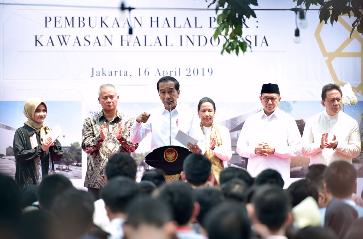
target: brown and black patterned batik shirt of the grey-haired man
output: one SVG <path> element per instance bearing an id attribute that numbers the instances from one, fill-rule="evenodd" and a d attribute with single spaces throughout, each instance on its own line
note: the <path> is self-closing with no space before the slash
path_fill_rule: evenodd
<path id="1" fill-rule="evenodd" d="M 119 111 L 111 121 L 103 116 L 102 111 L 85 119 L 82 130 L 82 149 L 89 154 L 85 187 L 101 188 L 105 185 L 105 168 L 109 157 L 119 152 L 130 154 L 138 147 L 137 143 L 132 143 L 130 140 L 130 127 L 134 121 L 135 118 Z M 107 127 L 105 139 L 101 139 L 100 135 L 103 122 L 106 122 Z M 122 127 L 121 139 L 116 138 L 119 122 Z"/>

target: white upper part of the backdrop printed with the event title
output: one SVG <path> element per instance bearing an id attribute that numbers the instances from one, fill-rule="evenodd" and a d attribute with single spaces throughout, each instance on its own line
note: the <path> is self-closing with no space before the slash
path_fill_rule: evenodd
<path id="1" fill-rule="evenodd" d="M 79 122 L 100 110 L 99 85 L 115 84 L 119 108 L 134 112 L 122 104 L 159 103 L 155 84 L 166 73 L 180 81 L 178 102 L 195 103 L 209 95 L 216 104 L 230 103 L 230 116 L 245 111 L 233 109 L 234 104 L 258 103 L 264 83 L 277 83 L 286 101 L 320 101 L 323 85 L 350 83 L 358 101 L 363 100 L 363 39 L 356 33 L 349 38 L 352 20 L 342 17 L 333 28 L 319 24 L 318 11 L 308 11 L 309 25 L 300 30 L 301 43 L 296 44 L 294 12 L 258 10 L 293 8 L 293 0 L 258 1 L 259 7 L 253 7 L 257 18 L 246 20 L 243 33 L 252 52 L 239 56 L 221 55 L 223 38 L 219 44 L 211 40 L 216 13 L 201 10 L 208 5 L 204 0 L 124 1 L 135 7 L 130 14 L 107 9 L 121 5 L 114 0 L 53 0 L 50 6 L 42 5 L 49 4 L 45 0 L 7 2 L 39 5 L 0 5 L 0 101 L 34 95 L 45 101 L 80 101 L 79 131 Z M 357 107 L 363 111 L 361 102 Z"/>

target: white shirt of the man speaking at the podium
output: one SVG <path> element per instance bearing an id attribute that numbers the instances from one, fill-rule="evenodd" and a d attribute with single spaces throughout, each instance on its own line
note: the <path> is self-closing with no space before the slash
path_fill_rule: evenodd
<path id="1" fill-rule="evenodd" d="M 151 132 L 151 150 L 170 145 L 169 111 L 164 107 L 160 107 L 149 110 L 147 113 L 150 114 L 150 118 L 146 123 L 138 123 L 135 120 L 134 125 L 131 127 L 131 142 L 140 143 Z M 171 110 L 171 145 L 187 147 L 179 143 L 175 139 L 175 136 L 179 130 L 190 134 L 190 130 L 193 127 L 193 115 L 191 110 L 184 109 L 180 106 Z"/>

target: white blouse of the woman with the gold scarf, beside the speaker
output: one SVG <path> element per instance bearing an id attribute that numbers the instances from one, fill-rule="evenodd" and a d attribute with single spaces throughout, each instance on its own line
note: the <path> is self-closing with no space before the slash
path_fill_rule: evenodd
<path id="1" fill-rule="evenodd" d="M 198 125 L 199 126 L 199 125 Z M 212 126 L 211 126 L 212 127 Z M 191 130 L 191 136 L 195 139 L 201 139 L 197 144 L 201 150 L 201 154 L 204 154 L 206 148 L 209 148 L 210 139 L 211 139 L 211 127 L 203 126 L 203 130 L 205 133 L 205 137 L 203 135 L 203 131 L 199 127 L 194 127 Z M 231 134 L 229 130 L 221 125 L 217 125 L 219 129 L 219 133 L 221 134 L 222 144 L 220 146 L 214 147 L 213 154 L 216 155 L 218 158 L 225 162 L 229 161 L 232 158 L 232 146 L 231 146 Z M 226 164 L 224 164 L 226 168 Z"/>

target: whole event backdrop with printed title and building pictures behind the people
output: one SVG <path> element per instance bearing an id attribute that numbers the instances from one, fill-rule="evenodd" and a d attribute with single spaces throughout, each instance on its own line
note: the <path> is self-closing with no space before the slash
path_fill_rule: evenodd
<path id="1" fill-rule="evenodd" d="M 121 11 L 121 3 L 131 9 Z M 215 102 L 214 122 L 231 136 L 229 167 L 246 168 L 249 163 L 237 153 L 237 140 L 246 118 L 263 109 L 259 97 L 266 83 L 278 85 L 278 108 L 295 119 L 300 136 L 307 119 L 327 109 L 321 102 L 323 86 L 350 86 L 347 93 L 343 91 L 348 96 L 341 111 L 358 122 L 363 142 L 363 35 L 356 30 L 351 34 L 353 17 L 340 16 L 333 27 L 320 23 L 315 5 L 302 11 L 305 15 L 300 19 L 299 9 L 305 6 L 297 7 L 296 1 L 260 0 L 258 6 L 250 6 L 256 18 L 246 18 L 242 24 L 244 43 L 238 54 L 227 50 L 222 54 L 227 36 L 224 31 L 215 33 L 221 11 L 216 13 L 215 4 L 208 8 L 211 3 L 2 3 L 0 171 L 15 176 L 14 135 L 27 121 L 25 101 L 39 97 L 48 108 L 44 123 L 61 129 L 58 142 L 64 155 L 54 161 L 54 171 L 83 188 L 89 154 L 81 148 L 82 128 L 87 117 L 102 110 L 98 88 L 115 85 L 118 111 L 136 118 L 163 106 L 156 83 L 164 76 L 180 83 L 176 109 L 189 109 L 197 120 L 199 100 L 209 97 Z M 333 135 L 328 138 L 333 140 Z M 131 152 L 139 166 L 138 180 L 148 168 L 144 157 L 151 149 L 150 133 Z M 306 176 L 310 157 L 291 157 L 291 178 Z M 363 189 L 362 152 L 352 158 L 358 193 Z"/>

